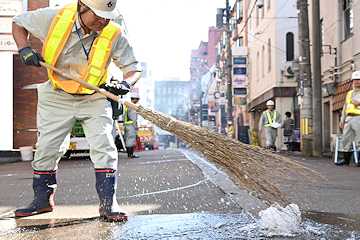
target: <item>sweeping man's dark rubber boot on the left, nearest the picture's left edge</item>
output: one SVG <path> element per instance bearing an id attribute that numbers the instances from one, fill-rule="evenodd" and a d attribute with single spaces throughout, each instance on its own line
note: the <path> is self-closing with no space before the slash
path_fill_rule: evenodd
<path id="1" fill-rule="evenodd" d="M 27 217 L 40 213 L 51 212 L 54 209 L 54 194 L 56 191 L 57 171 L 34 171 L 34 199 L 29 206 L 15 211 L 16 217 Z"/>

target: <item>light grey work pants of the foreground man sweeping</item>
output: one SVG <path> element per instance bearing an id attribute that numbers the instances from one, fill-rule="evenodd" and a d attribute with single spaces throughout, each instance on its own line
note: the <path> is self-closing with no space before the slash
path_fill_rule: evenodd
<path id="1" fill-rule="evenodd" d="M 54 171 L 62 152 L 59 148 L 76 120 L 84 128 L 90 159 L 96 169 L 117 169 L 118 152 L 111 135 L 112 108 L 106 97 L 69 94 L 47 81 L 38 88 L 38 131 L 34 170 Z"/>

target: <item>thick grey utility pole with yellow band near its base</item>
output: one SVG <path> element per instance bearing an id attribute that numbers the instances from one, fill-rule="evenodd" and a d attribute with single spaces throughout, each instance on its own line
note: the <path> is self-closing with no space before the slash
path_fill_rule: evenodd
<path id="1" fill-rule="evenodd" d="M 312 118 L 312 83 L 310 68 L 310 38 L 307 0 L 298 0 L 298 22 L 299 22 L 299 63 L 300 63 L 300 89 L 301 89 L 301 137 L 302 155 L 313 154 L 313 118 Z"/>

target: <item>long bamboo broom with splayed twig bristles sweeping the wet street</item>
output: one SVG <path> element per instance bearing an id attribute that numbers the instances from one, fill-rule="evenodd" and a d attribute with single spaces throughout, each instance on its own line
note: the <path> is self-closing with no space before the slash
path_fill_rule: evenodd
<path id="1" fill-rule="evenodd" d="M 246 189 L 250 195 L 269 205 L 275 202 L 281 205 L 295 202 L 280 190 L 279 187 L 284 182 L 296 182 L 298 187 L 305 187 L 315 181 L 316 176 L 325 178 L 321 174 L 294 162 L 294 160 L 274 154 L 268 149 L 244 144 L 206 128 L 135 105 L 44 62 L 40 62 L 40 64 L 63 77 L 72 79 L 86 88 L 95 90 L 134 109 L 148 121 L 189 144 L 207 160 L 225 171 L 235 183 Z"/>

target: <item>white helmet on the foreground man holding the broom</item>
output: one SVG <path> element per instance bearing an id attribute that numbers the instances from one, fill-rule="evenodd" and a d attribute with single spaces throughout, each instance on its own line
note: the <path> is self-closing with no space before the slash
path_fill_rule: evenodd
<path id="1" fill-rule="evenodd" d="M 119 9 L 116 7 L 116 0 L 81 0 L 81 2 L 99 17 L 106 19 L 120 17 Z"/>

